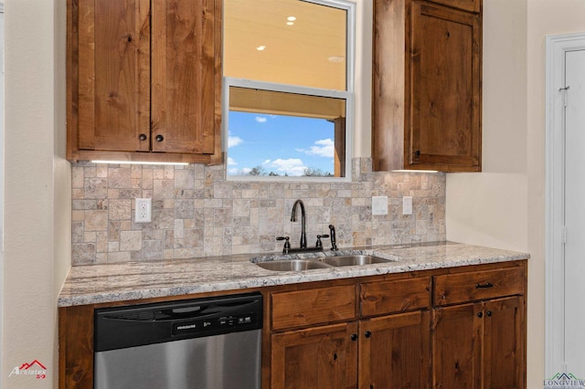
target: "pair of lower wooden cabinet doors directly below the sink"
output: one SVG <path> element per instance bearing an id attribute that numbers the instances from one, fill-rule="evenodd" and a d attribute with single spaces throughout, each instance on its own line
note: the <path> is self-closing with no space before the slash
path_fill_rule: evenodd
<path id="1" fill-rule="evenodd" d="M 272 388 L 426 388 L 429 310 L 271 336 Z"/>

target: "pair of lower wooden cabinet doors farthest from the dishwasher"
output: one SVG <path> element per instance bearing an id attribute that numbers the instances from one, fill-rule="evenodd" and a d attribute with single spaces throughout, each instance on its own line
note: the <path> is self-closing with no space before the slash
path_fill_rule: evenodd
<path id="1" fill-rule="evenodd" d="M 438 308 L 432 322 L 433 387 L 525 387 L 523 296 Z"/>

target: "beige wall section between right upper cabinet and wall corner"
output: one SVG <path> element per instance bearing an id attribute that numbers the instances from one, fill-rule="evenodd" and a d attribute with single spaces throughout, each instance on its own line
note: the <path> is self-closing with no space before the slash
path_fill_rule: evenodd
<path id="1" fill-rule="evenodd" d="M 447 174 L 447 237 L 527 250 L 527 0 L 484 0 L 483 172 Z"/>

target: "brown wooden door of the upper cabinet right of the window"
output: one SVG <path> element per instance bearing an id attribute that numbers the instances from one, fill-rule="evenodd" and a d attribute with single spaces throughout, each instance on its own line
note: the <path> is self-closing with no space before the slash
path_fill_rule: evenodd
<path id="1" fill-rule="evenodd" d="M 481 170 L 481 19 L 413 2 L 405 164 Z"/>

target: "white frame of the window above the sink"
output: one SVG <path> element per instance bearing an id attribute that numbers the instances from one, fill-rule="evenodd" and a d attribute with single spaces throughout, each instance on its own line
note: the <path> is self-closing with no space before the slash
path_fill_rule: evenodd
<path id="1" fill-rule="evenodd" d="M 346 100 L 346 175 L 344 177 L 313 177 L 313 176 L 268 176 L 268 175 L 229 175 L 226 166 L 227 181 L 303 181 L 303 182 L 351 182 L 352 159 L 354 144 L 354 79 L 356 61 L 356 3 L 346 0 L 301 0 L 316 5 L 331 6 L 346 10 L 346 90 L 320 89 L 299 85 L 279 84 L 256 81 L 251 79 L 235 79 L 224 77 L 222 82 L 221 133 L 222 151 L 229 156 L 229 88 L 263 89 L 283 93 L 302 94 L 307 96 Z M 226 159 L 225 163 L 228 161 Z"/>

